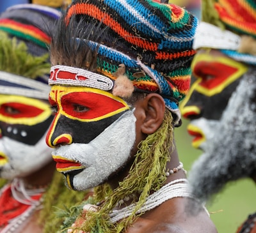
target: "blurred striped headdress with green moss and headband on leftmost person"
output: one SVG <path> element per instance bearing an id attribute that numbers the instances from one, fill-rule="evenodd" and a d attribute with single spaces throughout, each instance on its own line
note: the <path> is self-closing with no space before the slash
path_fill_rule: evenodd
<path id="1" fill-rule="evenodd" d="M 51 67 L 49 61 L 49 44 L 51 43 L 49 26 L 54 24 L 60 15 L 61 13 L 58 10 L 36 4 L 17 4 L 1 13 L 1 49 L 3 49 L 3 40 L 9 40 L 9 44 L 16 41 L 16 45 L 12 45 L 13 49 L 10 49 L 8 54 L 6 54 L 7 49 L 5 51 L 3 49 L 0 52 L 0 57 L 5 56 L 0 64 L 1 94 L 20 94 L 32 98 L 48 98 L 49 86 L 47 82 Z M 16 59 L 18 64 L 22 64 L 18 57 L 18 55 L 20 56 L 20 51 L 17 52 L 15 50 L 15 47 L 19 47 L 22 43 L 25 48 L 23 57 L 27 59 L 27 61 L 24 61 L 23 70 L 29 73 L 29 70 L 38 71 L 41 69 L 41 71 L 37 72 L 38 76 L 36 77 L 34 77 L 36 72 L 31 75 L 24 75 L 26 71 L 19 73 L 13 67 L 15 66 L 13 65 L 14 62 L 10 61 Z M 33 61 L 31 62 L 31 60 Z M 10 63 L 4 64 L 5 61 L 10 61 Z"/>

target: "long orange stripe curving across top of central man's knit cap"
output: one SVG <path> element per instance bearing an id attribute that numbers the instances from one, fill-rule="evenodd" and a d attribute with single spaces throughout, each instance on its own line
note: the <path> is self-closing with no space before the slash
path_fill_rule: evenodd
<path id="1" fill-rule="evenodd" d="M 138 47 L 141 47 L 146 50 L 157 50 L 157 43 L 150 43 L 146 40 L 141 40 L 140 38 L 134 37 L 134 35 L 125 31 L 125 29 L 120 24 L 118 24 L 118 22 L 113 20 L 110 15 L 102 12 L 99 8 L 97 8 L 97 6 L 94 6 L 93 4 L 78 3 L 74 6 L 71 6 L 68 10 L 66 17 L 67 24 L 72 15 L 74 14 L 90 15 L 91 17 L 94 17 L 95 19 L 104 22 L 104 24 L 113 29 L 113 31 L 118 33 L 120 36 L 122 36 L 122 38 L 124 38 L 124 40 L 128 41 L 129 43 L 137 45 Z"/>

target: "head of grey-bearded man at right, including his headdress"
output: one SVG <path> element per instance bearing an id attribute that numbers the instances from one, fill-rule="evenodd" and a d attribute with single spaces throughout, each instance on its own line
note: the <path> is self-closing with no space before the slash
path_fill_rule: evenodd
<path id="1" fill-rule="evenodd" d="M 255 181 L 256 7 L 243 3 L 202 1 L 191 65 L 195 82 L 181 107 L 191 120 L 193 146 L 204 151 L 189 172 L 192 192 L 202 202 L 229 181 Z"/>

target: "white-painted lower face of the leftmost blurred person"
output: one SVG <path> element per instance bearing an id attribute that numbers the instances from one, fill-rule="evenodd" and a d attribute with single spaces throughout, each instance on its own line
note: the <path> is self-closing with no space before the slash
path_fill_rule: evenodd
<path id="1" fill-rule="evenodd" d="M 45 135 L 35 145 L 24 144 L 9 137 L 0 139 L 0 177 L 25 177 L 49 163 L 52 148 L 45 143 Z"/>

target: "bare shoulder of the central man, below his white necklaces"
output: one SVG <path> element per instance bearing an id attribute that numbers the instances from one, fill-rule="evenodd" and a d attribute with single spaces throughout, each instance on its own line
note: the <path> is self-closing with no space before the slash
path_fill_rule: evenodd
<path id="1" fill-rule="evenodd" d="M 209 214 L 194 200 L 175 198 L 148 211 L 127 233 L 218 233 Z"/>

